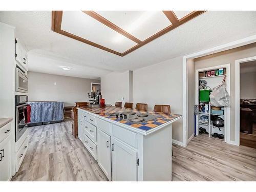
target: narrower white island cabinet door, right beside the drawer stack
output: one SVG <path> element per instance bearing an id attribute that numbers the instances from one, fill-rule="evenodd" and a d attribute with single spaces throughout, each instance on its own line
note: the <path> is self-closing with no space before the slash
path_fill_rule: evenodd
<path id="1" fill-rule="evenodd" d="M 106 177 L 111 181 L 111 137 L 101 130 L 98 134 L 98 164 Z"/>

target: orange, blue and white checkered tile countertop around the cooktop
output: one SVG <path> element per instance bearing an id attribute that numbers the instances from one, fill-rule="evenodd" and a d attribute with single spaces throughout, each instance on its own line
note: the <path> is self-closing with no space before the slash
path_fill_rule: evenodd
<path id="1" fill-rule="evenodd" d="M 153 111 L 147 111 L 147 113 L 152 114 L 152 115 L 158 115 L 159 117 L 147 122 L 141 122 L 141 123 L 132 123 L 127 121 L 126 119 L 117 119 L 113 116 L 109 116 L 109 113 L 113 113 L 113 112 L 123 112 L 125 111 L 124 108 L 119 108 L 116 106 L 106 106 L 105 108 L 90 108 L 90 107 L 86 107 L 86 106 L 81 106 L 78 107 L 78 109 L 82 109 L 85 110 L 87 112 L 93 113 L 95 115 L 107 118 L 109 120 L 112 120 L 114 122 L 118 122 L 121 123 L 123 125 L 126 126 L 130 126 L 133 129 L 139 129 L 142 130 L 143 132 L 145 132 L 145 134 L 152 132 L 155 129 L 158 129 L 160 127 L 163 127 L 167 124 L 170 124 L 178 119 L 180 119 L 182 117 L 182 115 L 178 115 L 178 114 L 164 114 L 164 113 L 160 113 L 160 112 L 153 112 Z M 132 110 L 134 112 L 138 112 L 137 110 Z"/>

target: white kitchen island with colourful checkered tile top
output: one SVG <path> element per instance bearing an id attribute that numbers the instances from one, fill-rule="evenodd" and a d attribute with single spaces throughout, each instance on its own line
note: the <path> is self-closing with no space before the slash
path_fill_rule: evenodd
<path id="1" fill-rule="evenodd" d="M 78 138 L 111 181 L 172 181 L 172 123 L 182 115 L 79 107 Z"/>

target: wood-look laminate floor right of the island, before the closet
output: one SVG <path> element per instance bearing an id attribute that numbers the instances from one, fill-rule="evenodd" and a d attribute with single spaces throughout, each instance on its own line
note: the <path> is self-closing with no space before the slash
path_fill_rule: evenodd
<path id="1" fill-rule="evenodd" d="M 173 153 L 173 181 L 256 181 L 255 148 L 199 135 Z"/>

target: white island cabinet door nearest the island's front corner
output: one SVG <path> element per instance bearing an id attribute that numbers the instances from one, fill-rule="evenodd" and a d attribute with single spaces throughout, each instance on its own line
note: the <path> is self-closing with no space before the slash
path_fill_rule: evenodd
<path id="1" fill-rule="evenodd" d="M 137 181 L 137 152 L 112 138 L 112 181 Z"/>

